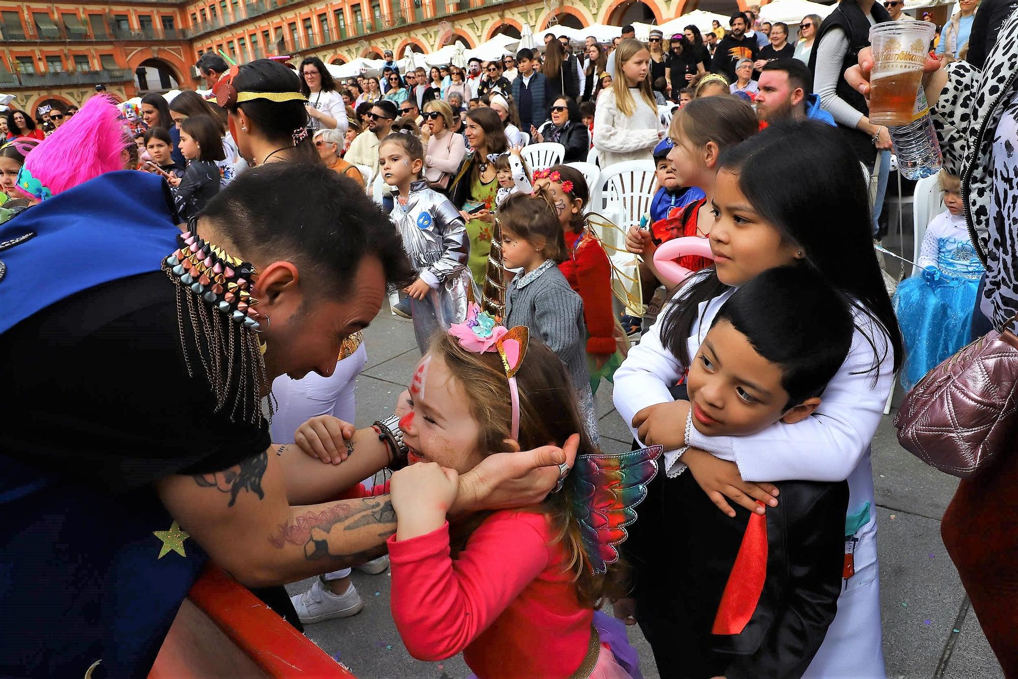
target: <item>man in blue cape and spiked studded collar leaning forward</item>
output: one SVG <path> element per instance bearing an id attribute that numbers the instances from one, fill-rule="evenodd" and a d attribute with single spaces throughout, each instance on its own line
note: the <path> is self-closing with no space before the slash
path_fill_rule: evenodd
<path id="1" fill-rule="evenodd" d="M 0 350 L 16 356 L 0 381 L 17 387 L 0 676 L 146 677 L 206 564 L 279 585 L 377 557 L 395 532 L 387 495 L 334 500 L 405 459 L 395 417 L 345 436 L 323 423 L 320 443 L 352 452 L 335 465 L 272 444 L 266 417 L 274 378 L 330 375 L 387 286 L 412 280 L 399 233 L 322 165 L 248 170 L 184 232 L 165 186 L 109 172 L 0 227 Z M 533 468 L 566 459 L 490 455 L 454 507 L 541 502 L 563 474 Z"/>

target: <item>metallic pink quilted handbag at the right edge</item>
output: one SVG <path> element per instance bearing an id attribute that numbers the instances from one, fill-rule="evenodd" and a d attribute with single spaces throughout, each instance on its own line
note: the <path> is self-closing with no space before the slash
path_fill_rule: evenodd
<path id="1" fill-rule="evenodd" d="M 894 426 L 905 450 L 961 478 L 1018 447 L 1018 336 L 993 330 L 931 370 Z"/>

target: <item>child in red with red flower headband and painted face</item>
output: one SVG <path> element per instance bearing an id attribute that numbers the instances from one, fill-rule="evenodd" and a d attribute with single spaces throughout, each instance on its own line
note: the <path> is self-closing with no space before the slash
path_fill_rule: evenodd
<path id="1" fill-rule="evenodd" d="M 568 165 L 535 171 L 533 185 L 535 192 L 543 192 L 559 214 L 569 250 L 569 259 L 559 265 L 559 270 L 583 298 L 590 391 L 597 393 L 601 378 L 611 381 L 624 358 L 619 339 L 625 334 L 612 310 L 612 264 L 583 212 L 590 192 L 583 174 Z"/>

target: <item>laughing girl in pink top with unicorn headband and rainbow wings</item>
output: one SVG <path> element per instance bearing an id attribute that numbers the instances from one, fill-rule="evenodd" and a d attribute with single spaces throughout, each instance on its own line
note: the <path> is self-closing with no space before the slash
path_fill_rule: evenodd
<path id="1" fill-rule="evenodd" d="M 437 336 L 418 364 L 400 420 L 411 464 L 391 480 L 398 529 L 388 543 L 392 614 L 414 658 L 462 652 L 483 679 L 640 676 L 624 626 L 597 609 L 620 593 L 613 545 L 626 536 L 658 451 L 602 455 L 584 434 L 571 384 L 551 349 L 527 343 L 526 328 L 497 326 L 472 303 L 467 321 Z M 446 520 L 457 475 L 486 451 L 574 432 L 576 477 L 562 491 L 525 509 Z M 606 499 L 629 509 L 592 507 Z M 591 528 L 592 513 L 612 529 Z"/>

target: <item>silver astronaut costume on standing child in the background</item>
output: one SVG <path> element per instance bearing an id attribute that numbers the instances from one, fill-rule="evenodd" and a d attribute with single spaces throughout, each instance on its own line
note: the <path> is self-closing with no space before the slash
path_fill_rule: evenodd
<path id="1" fill-rule="evenodd" d="M 396 201 L 390 217 L 417 275 L 432 288 L 423 299 L 410 298 L 413 334 L 425 353 L 435 331 L 466 318 L 466 290 L 473 285 L 466 266 L 470 240 L 449 199 L 422 180 L 410 184 L 406 205 Z"/>

